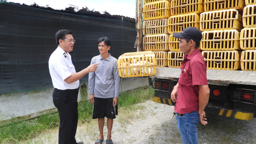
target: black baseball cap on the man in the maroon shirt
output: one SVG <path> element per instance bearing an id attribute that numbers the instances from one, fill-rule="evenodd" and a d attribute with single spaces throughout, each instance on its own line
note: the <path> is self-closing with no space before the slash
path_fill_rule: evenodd
<path id="1" fill-rule="evenodd" d="M 201 31 L 196 27 L 186 27 L 184 30 L 182 30 L 182 32 L 174 32 L 172 35 L 175 38 L 188 38 L 195 42 L 200 42 L 203 38 Z"/>

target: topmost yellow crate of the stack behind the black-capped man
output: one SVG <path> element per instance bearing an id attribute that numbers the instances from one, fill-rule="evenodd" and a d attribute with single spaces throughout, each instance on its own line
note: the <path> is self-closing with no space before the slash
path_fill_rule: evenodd
<path id="1" fill-rule="evenodd" d="M 171 15 L 201 14 L 204 12 L 203 0 L 172 0 L 171 1 Z"/>

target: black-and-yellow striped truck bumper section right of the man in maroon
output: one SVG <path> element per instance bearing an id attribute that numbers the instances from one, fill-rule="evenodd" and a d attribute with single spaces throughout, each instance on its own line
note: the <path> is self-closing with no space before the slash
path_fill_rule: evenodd
<path id="1" fill-rule="evenodd" d="M 238 111 L 235 109 L 225 109 L 217 106 L 206 105 L 206 107 L 204 108 L 204 111 L 209 112 L 211 114 L 236 118 L 239 120 L 253 120 L 253 113 Z"/>

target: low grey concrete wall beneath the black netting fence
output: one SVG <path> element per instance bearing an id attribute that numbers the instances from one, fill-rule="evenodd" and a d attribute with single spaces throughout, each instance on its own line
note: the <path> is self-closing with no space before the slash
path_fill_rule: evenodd
<path id="1" fill-rule="evenodd" d="M 120 92 L 148 85 L 148 78 L 121 78 Z M 88 82 L 80 83 L 78 101 L 88 99 Z M 52 101 L 54 88 L 39 91 L 0 94 L 0 124 L 12 118 L 29 119 L 57 111 Z"/>

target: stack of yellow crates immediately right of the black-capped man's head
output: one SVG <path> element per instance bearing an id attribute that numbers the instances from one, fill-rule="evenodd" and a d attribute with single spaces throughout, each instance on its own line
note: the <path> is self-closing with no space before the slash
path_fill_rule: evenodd
<path id="1" fill-rule="evenodd" d="M 237 70 L 241 67 L 239 44 L 244 0 L 204 0 L 200 15 L 200 50 L 208 69 Z"/>

